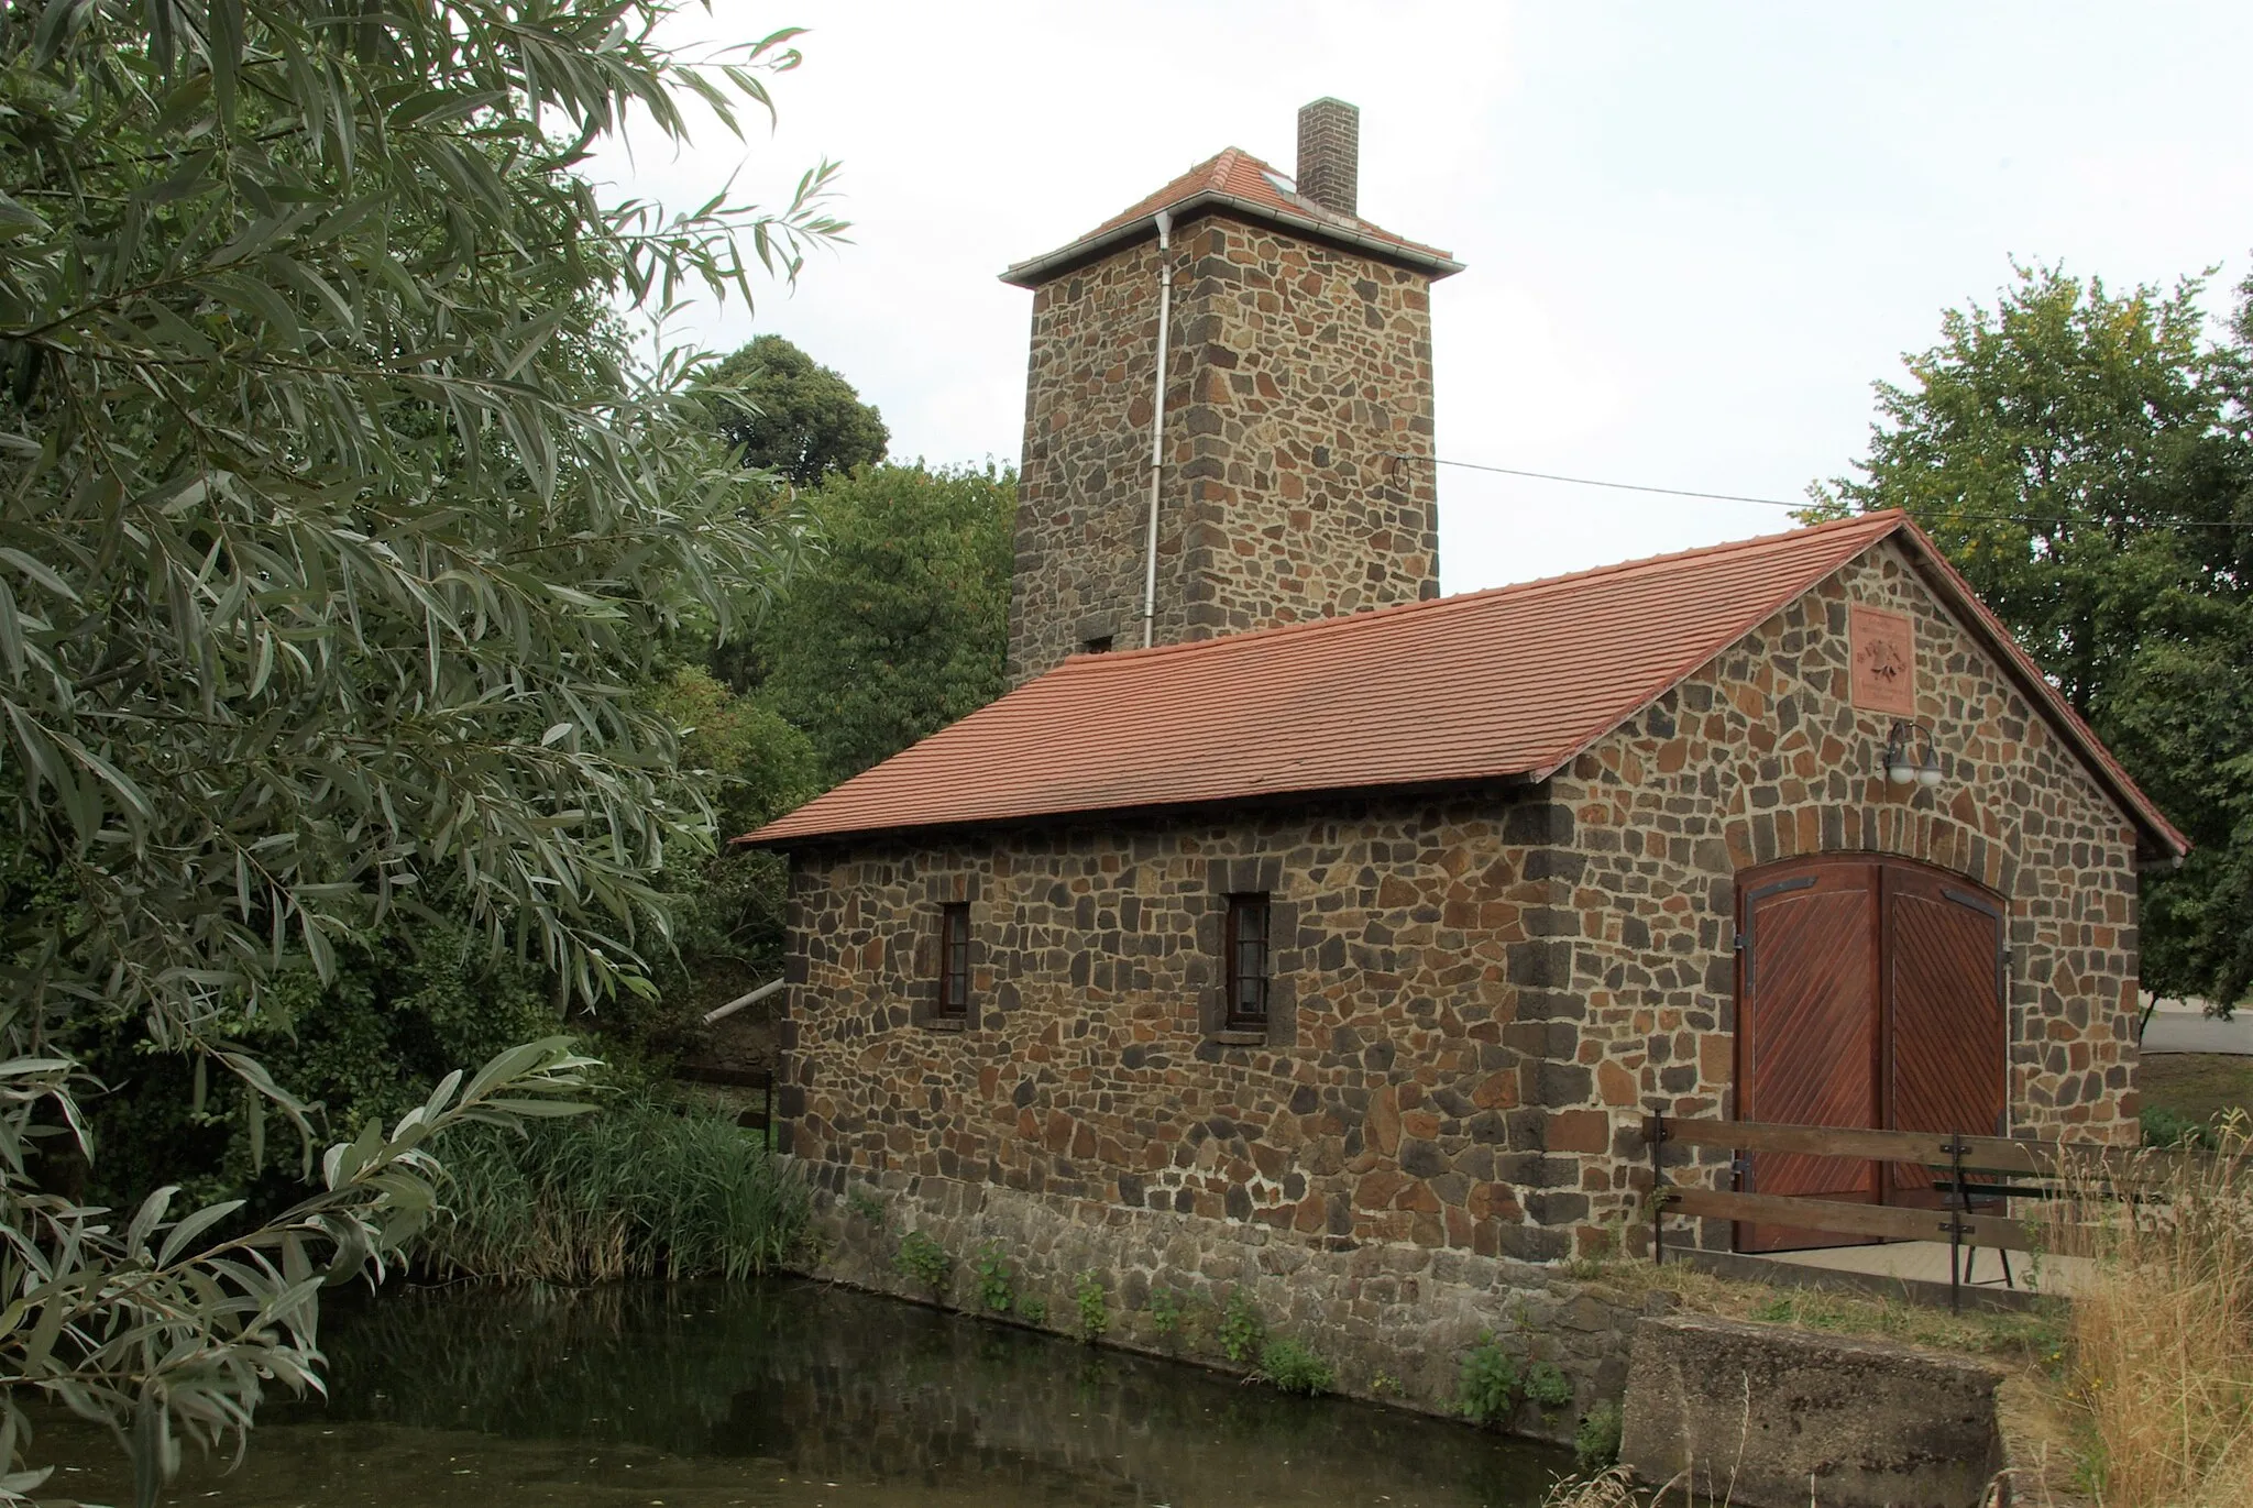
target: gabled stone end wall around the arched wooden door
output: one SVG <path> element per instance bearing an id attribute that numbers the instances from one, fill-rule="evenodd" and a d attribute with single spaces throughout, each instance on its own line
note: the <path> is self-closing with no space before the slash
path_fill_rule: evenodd
<path id="1" fill-rule="evenodd" d="M 1847 703 L 1852 602 L 1915 622 L 1938 789 L 1902 796 L 1877 769 L 1893 717 Z M 1577 1039 L 1552 1075 L 1577 1105 L 1550 1100 L 1550 1145 L 1588 1154 L 1591 1219 L 1631 1204 L 1642 1114 L 1733 1114 L 1735 875 L 1805 854 L 1899 854 L 2003 895 L 2012 1134 L 2136 1141 L 2134 830 L 1895 545 L 1597 742 L 1550 800 L 1573 897 L 1543 942 L 1552 990 L 1521 1017 L 1548 1005 Z"/>

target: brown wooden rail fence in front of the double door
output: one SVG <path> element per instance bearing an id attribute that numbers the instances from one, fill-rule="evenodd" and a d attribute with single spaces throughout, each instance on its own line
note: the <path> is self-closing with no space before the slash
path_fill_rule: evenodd
<path id="1" fill-rule="evenodd" d="M 1958 1136 L 1942 1132 L 1863 1132 L 1827 1125 L 1764 1125 L 1753 1120 L 1683 1120 L 1647 1116 L 1642 1138 L 1651 1154 L 1651 1256 L 1665 1260 L 1665 1217 L 1699 1215 L 1748 1224 L 1791 1226 L 1825 1235 L 1859 1235 L 1904 1242 L 1949 1242 L 1949 1303 L 1962 1303 L 1962 1253 L 1967 1247 L 2037 1251 L 2030 1222 L 2012 1215 L 1980 1215 L 1978 1204 L 2010 1199 L 2057 1199 L 2064 1183 L 2075 1192 L 2140 1197 L 2170 1183 L 2194 1152 L 2152 1152 L 2102 1143 L 2010 1141 L 2003 1136 Z M 1760 1195 L 1721 1188 L 1676 1186 L 1665 1177 L 1663 1152 L 1681 1147 L 1726 1147 L 1733 1154 L 1791 1152 L 1870 1163 L 1908 1163 L 1940 1174 L 1942 1206 L 1850 1204 L 1798 1195 Z M 2055 1233 L 2055 1226 L 2052 1226 Z M 2005 1262 L 2005 1274 L 2007 1274 Z"/>

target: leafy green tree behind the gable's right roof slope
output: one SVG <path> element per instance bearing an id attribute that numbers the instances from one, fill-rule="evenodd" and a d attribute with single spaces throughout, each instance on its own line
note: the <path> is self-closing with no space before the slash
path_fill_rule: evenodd
<path id="1" fill-rule="evenodd" d="M 2215 345 L 2199 280 L 2016 273 L 1877 383 L 1818 512 L 1913 514 L 2197 843 L 2145 884 L 2143 976 L 2226 1008 L 2253 981 L 2253 284 Z"/>

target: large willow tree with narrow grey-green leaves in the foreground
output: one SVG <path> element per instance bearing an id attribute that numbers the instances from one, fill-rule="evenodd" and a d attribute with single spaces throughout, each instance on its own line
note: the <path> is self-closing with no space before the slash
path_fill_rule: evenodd
<path id="1" fill-rule="evenodd" d="M 604 210 L 635 113 L 734 126 L 789 34 L 667 52 L 669 0 L 47 0 L 0 27 L 0 1445 L 32 1393 L 108 1420 L 155 1499 L 178 1438 L 315 1384 L 318 1289 L 430 1213 L 430 1138 L 559 1109 L 561 1039 L 311 1161 L 257 1055 L 306 974 L 439 922 L 566 999 L 649 992 L 662 872 L 712 809 L 640 694 L 789 548 L 615 309 L 748 298 L 836 230 Z M 70 1188 L 99 1039 L 203 1114 L 295 1123 L 295 1206 Z M 207 1071 L 216 1082 L 207 1084 Z M 354 1134 L 356 1132 L 356 1134 Z M 7 1463 L 0 1463 L 5 1470 Z M 0 1481 L 0 1497 L 36 1479 Z"/>

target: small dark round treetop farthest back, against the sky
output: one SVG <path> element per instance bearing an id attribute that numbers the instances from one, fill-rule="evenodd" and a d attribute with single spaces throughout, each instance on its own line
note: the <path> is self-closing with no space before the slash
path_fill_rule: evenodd
<path id="1" fill-rule="evenodd" d="M 759 336 L 714 365 L 705 401 L 746 467 L 813 487 L 834 471 L 874 467 L 892 433 L 858 390 L 782 336 Z"/>

